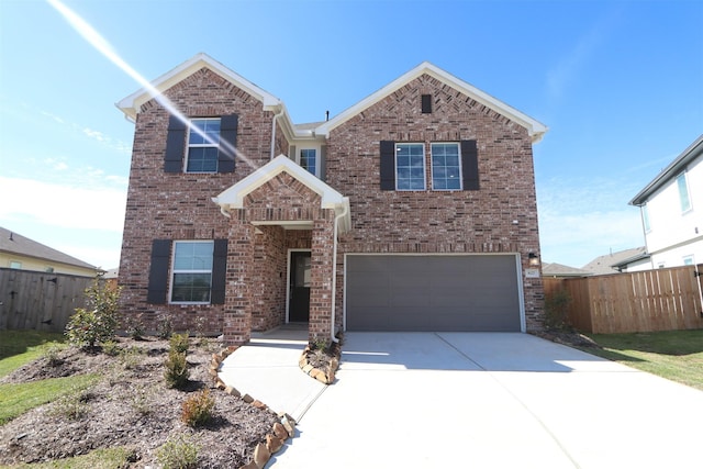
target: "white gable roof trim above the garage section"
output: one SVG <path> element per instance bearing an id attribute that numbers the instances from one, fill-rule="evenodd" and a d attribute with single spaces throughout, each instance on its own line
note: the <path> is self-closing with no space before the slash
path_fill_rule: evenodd
<path id="1" fill-rule="evenodd" d="M 367 98 L 362 99 L 361 101 L 354 104 L 353 107 L 346 109 L 345 111 L 337 114 L 330 121 L 324 122 L 322 125 L 320 125 L 316 129 L 315 133 L 320 135 L 328 136 L 330 132 L 333 129 L 337 127 L 338 125 L 342 125 L 349 119 L 357 115 L 359 112 L 376 104 L 380 100 L 384 99 L 387 96 L 395 92 L 403 86 L 408 85 L 412 80 L 425 74 L 429 75 L 431 77 L 444 83 L 449 85 L 451 88 L 462 92 L 464 94 L 467 94 L 468 97 L 480 102 L 487 108 L 492 109 L 499 114 L 504 115 L 510 120 L 518 123 L 523 127 L 527 129 L 527 133 L 532 137 L 533 143 L 539 142 L 548 130 L 547 126 L 544 125 L 543 123 L 532 119 L 527 114 L 524 114 L 517 111 L 515 108 L 505 104 L 503 101 L 500 101 L 493 98 L 492 96 L 479 90 L 475 86 L 469 85 L 468 82 L 455 77 L 454 75 L 448 74 L 447 71 L 440 69 L 439 67 L 428 62 L 423 62 L 417 67 L 413 68 L 412 70 L 397 78 L 395 80 L 391 81 L 380 90 L 368 96 Z"/>

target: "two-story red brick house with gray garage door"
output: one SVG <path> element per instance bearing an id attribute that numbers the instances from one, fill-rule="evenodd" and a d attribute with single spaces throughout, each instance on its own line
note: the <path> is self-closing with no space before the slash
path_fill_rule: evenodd
<path id="1" fill-rule="evenodd" d="M 147 328 L 542 327 L 539 122 L 428 63 L 316 124 L 204 54 L 152 85 L 118 103 L 122 306 Z"/>

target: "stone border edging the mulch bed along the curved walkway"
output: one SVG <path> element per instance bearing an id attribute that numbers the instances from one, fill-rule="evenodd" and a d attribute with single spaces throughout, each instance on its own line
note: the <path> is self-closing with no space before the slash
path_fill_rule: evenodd
<path id="1" fill-rule="evenodd" d="M 220 350 L 217 354 L 212 354 L 208 373 L 212 377 L 215 388 L 235 398 L 242 398 L 244 402 L 257 409 L 274 412 L 261 401 L 252 398 L 249 394 L 242 394 L 236 388 L 225 384 L 224 381 L 220 379 L 219 370 L 222 361 L 236 351 L 237 348 L 236 346 L 230 346 Z M 295 436 L 295 420 L 284 412 L 277 413 L 276 415 L 278 416 L 278 422 L 274 424 L 271 432 L 266 434 L 266 442 L 259 442 L 259 444 L 256 445 L 254 448 L 254 458 L 239 469 L 264 469 L 271 456 L 283 447 L 286 440 Z"/>

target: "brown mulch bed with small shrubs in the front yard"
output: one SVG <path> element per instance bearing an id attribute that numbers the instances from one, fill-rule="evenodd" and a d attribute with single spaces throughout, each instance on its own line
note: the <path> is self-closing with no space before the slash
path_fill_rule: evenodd
<path id="1" fill-rule="evenodd" d="M 188 350 L 190 382 L 186 390 L 169 389 L 164 380 L 168 340 L 119 338 L 118 356 L 68 348 L 56 359 L 41 358 L 0 382 L 99 373 L 100 381 L 82 393 L 79 417 L 62 412 L 62 400 L 35 407 L 0 426 L 0 464 L 40 462 L 83 455 L 93 449 L 123 446 L 133 450 L 133 466 L 157 464 L 156 450 L 178 435 L 199 446 L 200 468 L 239 468 L 252 460 L 255 446 L 265 442 L 277 415 L 214 389 L 208 375 L 214 339 L 191 339 Z M 130 350 L 130 351 L 124 351 Z M 182 402 L 209 388 L 215 400 L 214 418 L 192 428 L 180 420 Z"/>

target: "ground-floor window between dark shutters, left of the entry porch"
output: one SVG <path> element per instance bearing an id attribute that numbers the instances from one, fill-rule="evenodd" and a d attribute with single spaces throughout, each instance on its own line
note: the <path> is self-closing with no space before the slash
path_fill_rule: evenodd
<path id="1" fill-rule="evenodd" d="M 174 245 L 171 303 L 209 303 L 213 242 L 177 241 Z"/>

